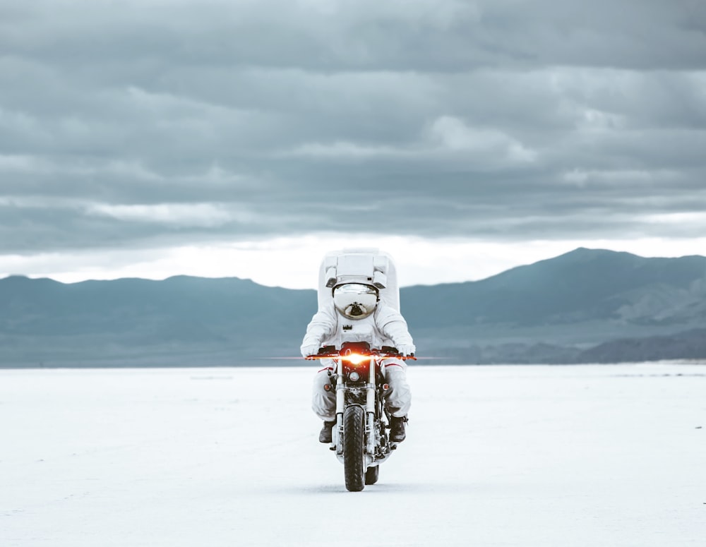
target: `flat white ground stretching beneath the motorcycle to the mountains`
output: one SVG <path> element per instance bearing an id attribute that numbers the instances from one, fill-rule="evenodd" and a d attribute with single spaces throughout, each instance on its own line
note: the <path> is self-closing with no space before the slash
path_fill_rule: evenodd
<path id="1" fill-rule="evenodd" d="M 412 365 L 361 493 L 312 376 L 0 371 L 0 546 L 706 545 L 706 365 Z"/>

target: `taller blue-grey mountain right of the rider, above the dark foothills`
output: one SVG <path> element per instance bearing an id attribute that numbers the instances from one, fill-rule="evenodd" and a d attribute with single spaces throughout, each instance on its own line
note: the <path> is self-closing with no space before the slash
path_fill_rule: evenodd
<path id="1" fill-rule="evenodd" d="M 403 294 L 415 339 L 433 347 L 446 340 L 446 354 L 459 359 L 503 344 L 585 349 L 705 327 L 706 258 L 578 248 L 481 281 L 409 287 Z"/>

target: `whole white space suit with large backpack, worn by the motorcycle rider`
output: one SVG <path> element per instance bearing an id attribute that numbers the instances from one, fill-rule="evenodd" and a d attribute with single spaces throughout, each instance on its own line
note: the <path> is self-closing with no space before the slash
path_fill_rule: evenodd
<path id="1" fill-rule="evenodd" d="M 336 259 L 333 268 L 331 256 Z M 407 322 L 398 311 L 399 289 L 389 256 L 376 249 L 334 251 L 325 258 L 321 271 L 319 307 L 306 327 L 302 356 L 316 354 L 323 346 L 340 349 L 343 342 L 368 342 L 376 349 L 394 346 L 404 356 L 414 355 L 416 348 Z M 311 407 L 324 421 L 319 440 L 330 443 L 336 397 L 325 386 L 330 383 L 335 363 L 331 359 L 323 359 L 321 363 L 323 368 L 313 382 Z M 385 383 L 390 385 L 385 397 L 385 407 L 391 416 L 390 438 L 401 442 L 405 439 L 407 412 L 412 403 L 407 365 L 401 359 L 385 359 L 382 373 Z"/>

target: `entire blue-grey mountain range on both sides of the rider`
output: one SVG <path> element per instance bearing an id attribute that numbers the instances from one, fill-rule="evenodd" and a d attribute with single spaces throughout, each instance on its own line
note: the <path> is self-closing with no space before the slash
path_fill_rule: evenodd
<path id="1" fill-rule="evenodd" d="M 706 258 L 579 248 L 477 282 L 407 287 L 427 362 L 706 358 Z M 62 284 L 0 279 L 0 366 L 281 364 L 313 290 L 170 277 Z M 667 350 L 666 348 L 669 348 Z M 298 361 L 287 361 L 298 363 Z"/>

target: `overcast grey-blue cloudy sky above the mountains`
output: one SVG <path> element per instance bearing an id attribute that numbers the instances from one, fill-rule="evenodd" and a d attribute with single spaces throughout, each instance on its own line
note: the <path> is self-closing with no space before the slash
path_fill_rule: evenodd
<path id="1" fill-rule="evenodd" d="M 0 0 L 0 276 L 706 254 L 702 0 Z"/>

